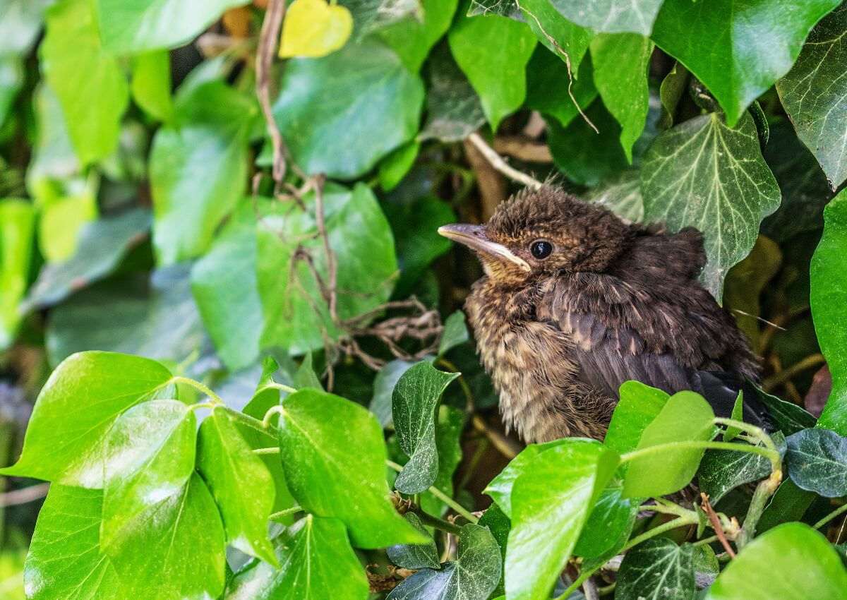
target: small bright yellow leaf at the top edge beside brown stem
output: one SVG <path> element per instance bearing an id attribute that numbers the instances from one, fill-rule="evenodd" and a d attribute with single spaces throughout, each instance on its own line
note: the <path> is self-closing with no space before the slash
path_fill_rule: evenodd
<path id="1" fill-rule="evenodd" d="M 324 0 L 294 0 L 282 25 L 280 58 L 320 57 L 344 46 L 353 31 L 353 17 L 343 6 Z"/>

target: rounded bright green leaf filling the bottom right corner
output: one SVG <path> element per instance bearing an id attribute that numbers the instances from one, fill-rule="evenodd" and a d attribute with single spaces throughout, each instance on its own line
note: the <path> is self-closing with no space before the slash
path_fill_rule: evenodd
<path id="1" fill-rule="evenodd" d="M 800 587 L 798 587 L 800 586 Z M 756 537 L 709 588 L 706 600 L 828 600 L 844 594 L 847 569 L 827 539 L 786 523 Z"/>

